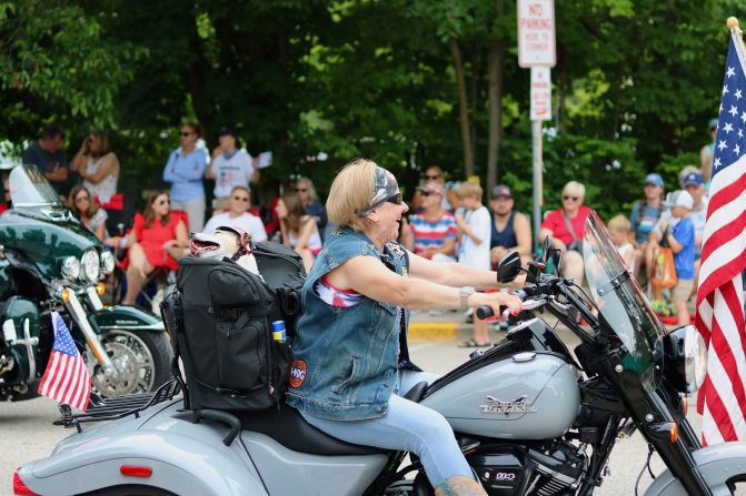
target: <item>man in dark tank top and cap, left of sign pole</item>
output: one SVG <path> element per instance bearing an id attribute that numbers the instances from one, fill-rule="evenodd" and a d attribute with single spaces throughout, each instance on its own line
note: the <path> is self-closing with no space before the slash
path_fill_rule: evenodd
<path id="1" fill-rule="evenodd" d="M 505 184 L 493 188 L 489 207 L 493 210 L 489 242 L 493 266 L 510 252 L 518 252 L 523 262 L 528 262 L 531 254 L 531 224 L 526 215 L 515 211 L 510 188 Z"/>

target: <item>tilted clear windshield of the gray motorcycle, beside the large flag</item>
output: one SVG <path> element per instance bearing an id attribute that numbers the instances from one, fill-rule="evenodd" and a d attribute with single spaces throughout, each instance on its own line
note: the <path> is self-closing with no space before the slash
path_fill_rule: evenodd
<path id="1" fill-rule="evenodd" d="M 583 259 L 588 287 L 603 320 L 627 348 L 623 365 L 640 374 L 648 371 L 655 343 L 666 328 L 595 213 L 586 221 Z"/>

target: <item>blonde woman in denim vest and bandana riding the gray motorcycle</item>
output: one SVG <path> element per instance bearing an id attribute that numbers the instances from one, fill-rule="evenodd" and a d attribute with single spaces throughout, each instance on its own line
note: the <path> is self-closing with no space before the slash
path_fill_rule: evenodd
<path id="1" fill-rule="evenodd" d="M 340 229 L 326 241 L 302 291 L 288 404 L 349 443 L 415 453 L 437 495 L 484 495 L 446 418 L 399 395 L 435 376 L 409 362 L 405 310 L 506 305 L 495 272 L 438 264 L 396 242 L 408 206 L 394 175 L 356 160 L 337 175 L 327 212 Z"/>

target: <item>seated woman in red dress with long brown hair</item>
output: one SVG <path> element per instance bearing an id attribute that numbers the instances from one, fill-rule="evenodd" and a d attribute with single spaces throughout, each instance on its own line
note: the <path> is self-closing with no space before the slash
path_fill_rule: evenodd
<path id="1" fill-rule="evenodd" d="M 159 267 L 176 271 L 177 260 L 189 249 L 187 226 L 180 215 L 172 214 L 168 193 L 148 195 L 143 213 L 135 215 L 127 245 L 129 266 L 122 303 L 133 305 L 148 275 Z"/>

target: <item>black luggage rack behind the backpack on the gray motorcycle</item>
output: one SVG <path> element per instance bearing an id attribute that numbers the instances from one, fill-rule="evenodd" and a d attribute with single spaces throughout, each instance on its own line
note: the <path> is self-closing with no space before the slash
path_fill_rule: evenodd
<path id="1" fill-rule="evenodd" d="M 113 398 L 105 398 L 91 393 L 88 411 L 73 415 L 70 405 L 60 404 L 59 408 L 62 416 L 53 424 L 62 425 L 66 428 L 76 427 L 80 433 L 82 432 L 80 424 L 83 422 L 115 421 L 128 415 L 135 415 L 136 418 L 139 418 L 140 412 L 143 409 L 172 399 L 180 392 L 181 386 L 176 379 L 172 379 L 152 393 L 130 394 Z"/>

